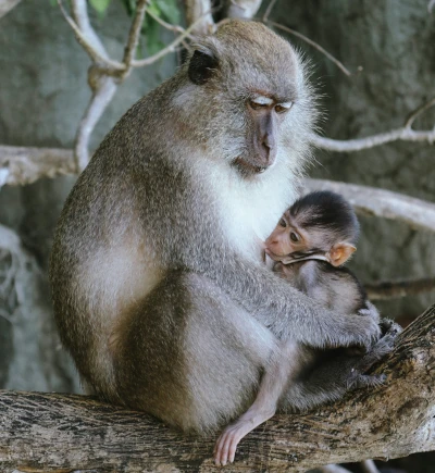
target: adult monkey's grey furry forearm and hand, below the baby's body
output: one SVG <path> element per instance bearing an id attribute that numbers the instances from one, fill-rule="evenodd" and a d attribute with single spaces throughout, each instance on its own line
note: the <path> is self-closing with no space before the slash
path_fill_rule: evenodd
<path id="1" fill-rule="evenodd" d="M 216 266 L 203 260 L 197 271 L 215 281 L 281 339 L 331 347 L 370 346 L 378 337 L 377 320 L 371 315 L 332 312 L 260 264 L 234 253 L 225 261 Z"/>

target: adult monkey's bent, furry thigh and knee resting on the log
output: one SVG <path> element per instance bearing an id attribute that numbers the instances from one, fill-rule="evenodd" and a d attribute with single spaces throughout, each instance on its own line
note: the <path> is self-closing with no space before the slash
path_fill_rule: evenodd
<path id="1" fill-rule="evenodd" d="M 209 432 L 253 401 L 272 333 L 203 276 L 173 272 L 120 326 L 123 402 L 183 431 Z"/>

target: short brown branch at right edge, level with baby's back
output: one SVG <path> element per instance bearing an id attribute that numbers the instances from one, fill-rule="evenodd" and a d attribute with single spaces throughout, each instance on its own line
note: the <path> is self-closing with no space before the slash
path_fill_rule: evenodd
<path id="1" fill-rule="evenodd" d="M 388 281 L 377 284 L 366 284 L 364 287 L 371 300 L 396 299 L 434 291 L 435 277 Z"/>

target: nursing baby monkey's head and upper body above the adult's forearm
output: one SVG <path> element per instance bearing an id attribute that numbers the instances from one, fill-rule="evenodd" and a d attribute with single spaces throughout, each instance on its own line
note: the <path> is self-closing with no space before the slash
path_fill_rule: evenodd
<path id="1" fill-rule="evenodd" d="M 341 266 L 356 250 L 359 229 L 343 196 L 308 194 L 285 212 L 266 240 L 269 254 L 277 261 L 273 271 L 331 310 L 349 315 L 375 311 L 358 278 Z"/>

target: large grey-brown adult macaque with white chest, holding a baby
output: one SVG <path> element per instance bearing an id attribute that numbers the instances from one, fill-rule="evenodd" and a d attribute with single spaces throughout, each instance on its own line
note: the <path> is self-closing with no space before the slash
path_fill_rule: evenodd
<path id="1" fill-rule="evenodd" d="M 104 138 L 51 259 L 63 344 L 98 395 L 207 432 L 252 402 L 277 339 L 378 336 L 372 318 L 330 312 L 261 263 L 314 116 L 288 42 L 232 21 Z"/>

